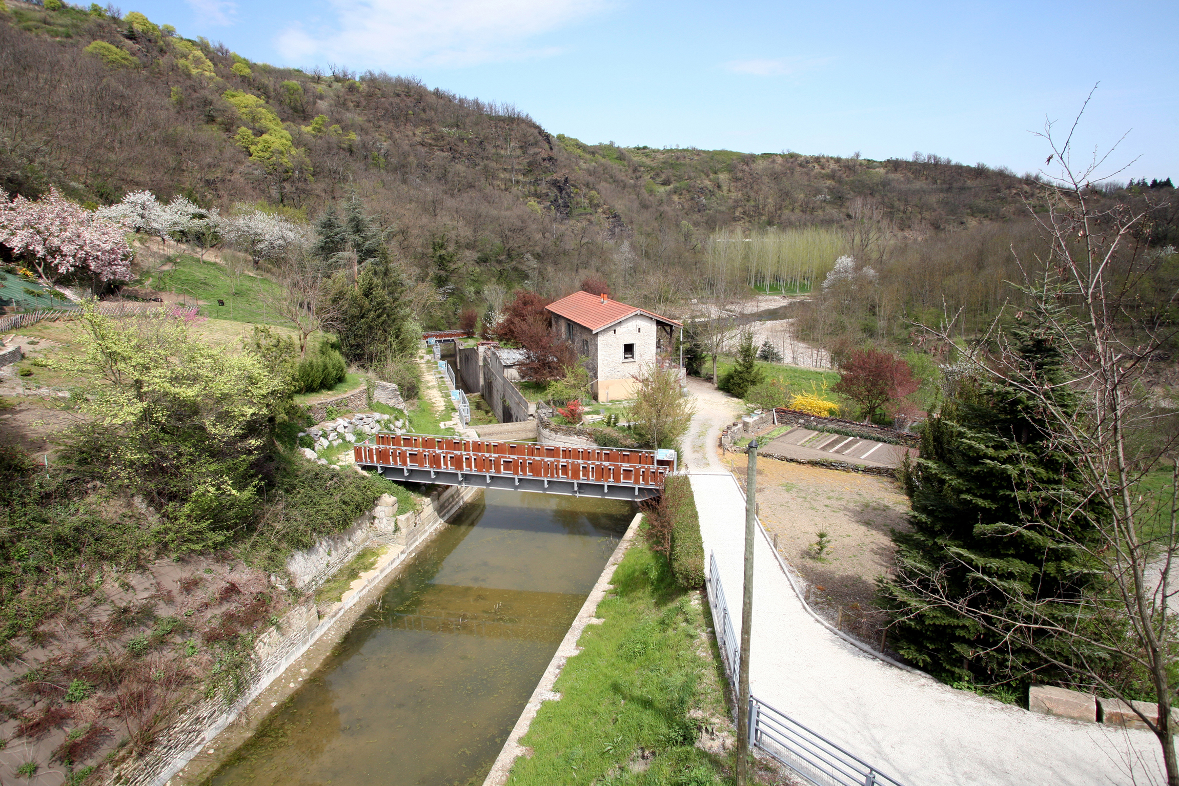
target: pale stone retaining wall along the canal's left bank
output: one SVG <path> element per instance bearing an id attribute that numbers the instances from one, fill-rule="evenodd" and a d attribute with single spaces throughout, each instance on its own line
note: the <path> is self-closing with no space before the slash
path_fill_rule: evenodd
<path id="1" fill-rule="evenodd" d="M 327 634 L 332 625 L 360 599 L 364 597 L 369 588 L 387 583 L 393 572 L 404 563 L 417 544 L 428 540 L 447 519 L 480 491 L 482 489 L 446 487 L 444 490 L 432 494 L 420 513 L 410 511 L 400 516 L 389 515 L 390 510 L 396 510 L 395 504 L 390 504 L 390 500 L 393 503 L 396 500 L 389 495 L 378 498 L 371 511 L 357 519 L 347 533 L 337 536 L 342 539 L 337 541 L 340 554 L 332 553 L 328 562 L 337 567 L 342 566 L 355 557 L 374 539 L 397 541 L 399 543 L 394 544 L 393 548 L 402 547 L 399 556 L 389 560 L 382 570 L 369 577 L 364 587 L 347 594 L 341 602 L 324 609 L 323 615 L 320 614 L 311 597 L 288 612 L 276 627 L 259 634 L 255 643 L 255 658 L 245 678 L 245 687 L 232 705 L 226 706 L 218 698 L 200 699 L 179 711 L 177 720 L 157 738 L 151 751 L 116 768 L 105 781 L 106 786 L 114 784 L 119 786 L 166 786 L 167 781 L 200 753 L 206 744 L 212 742 L 222 731 L 237 720 L 250 702 L 281 676 L 288 666 Z M 390 524 L 390 521 L 395 523 Z M 331 575 L 331 572 L 325 567 L 328 562 L 324 562 L 325 549 L 322 546 L 323 541 L 304 551 L 299 561 L 299 564 L 304 566 L 305 569 L 314 570 L 311 582 L 305 584 L 308 589 L 314 588 L 314 582 Z M 318 557 L 311 555 L 311 551 L 316 549 L 320 549 L 321 553 Z M 316 567 L 321 563 L 324 567 Z"/>

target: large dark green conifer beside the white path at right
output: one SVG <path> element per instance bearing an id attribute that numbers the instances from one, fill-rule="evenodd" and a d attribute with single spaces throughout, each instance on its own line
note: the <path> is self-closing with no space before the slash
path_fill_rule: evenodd
<path id="1" fill-rule="evenodd" d="M 1063 382 L 1054 346 L 1025 325 L 1013 332 L 1046 382 Z M 1068 407 L 1067 388 L 1060 390 L 1058 403 Z M 1025 680 L 1046 667 L 1036 649 L 1066 658 L 1047 638 L 1006 638 L 1001 622 L 984 626 L 977 614 L 1017 615 L 1022 603 L 1045 602 L 1066 616 L 1075 608 L 1068 600 L 1092 581 L 1079 551 L 1063 543 L 1095 530 L 1062 507 L 1069 494 L 1084 504 L 1079 483 L 1072 458 L 1053 450 L 1041 424 L 1020 391 L 960 379 L 940 417 L 927 422 L 921 458 L 907 474 L 911 530 L 894 530 L 896 574 L 878 580 L 877 592 L 894 616 L 893 648 L 947 682 Z M 915 584 L 936 587 L 950 605 L 928 603 Z"/>

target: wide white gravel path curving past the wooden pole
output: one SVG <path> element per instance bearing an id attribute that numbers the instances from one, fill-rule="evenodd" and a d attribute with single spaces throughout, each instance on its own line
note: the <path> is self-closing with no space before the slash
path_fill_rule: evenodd
<path id="1" fill-rule="evenodd" d="M 700 398 L 704 410 L 711 398 Z M 714 436 L 711 461 L 697 457 L 694 438 L 729 415 L 697 420 L 689 465 L 719 465 Z M 744 496 L 729 473 L 693 474 L 692 489 L 739 630 Z M 763 536 L 755 566 L 753 694 L 905 786 L 1165 782 L 1151 733 L 1032 714 L 890 666 L 808 614 Z"/>

